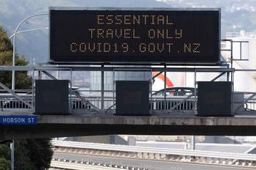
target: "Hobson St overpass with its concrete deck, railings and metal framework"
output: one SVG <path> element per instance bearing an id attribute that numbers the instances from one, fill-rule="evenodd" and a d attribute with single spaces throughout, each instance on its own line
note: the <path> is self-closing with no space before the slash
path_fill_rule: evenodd
<path id="1" fill-rule="evenodd" d="M 221 76 L 226 76 L 227 81 L 232 81 L 235 72 L 255 70 L 235 70 L 227 65 L 216 67 L 124 67 L 122 65 L 118 67 L 112 65 L 0 67 L 0 71 L 12 70 L 29 71 L 33 80 L 32 89 L 10 90 L 4 84 L 0 84 L 2 88 L 0 117 L 31 116 L 37 119 L 37 124 L 3 125 L 1 122 L 0 140 L 109 134 L 255 136 L 255 92 L 232 92 L 233 96 L 239 95 L 243 98 L 243 100 L 232 100 L 234 117 L 198 117 L 196 94 L 182 97 L 154 96 L 151 90 L 150 109 L 149 113 L 146 113 L 149 116 L 128 117 L 115 114 L 115 89 L 104 90 L 104 72 L 107 71 L 112 72 L 114 77 L 115 72 L 118 71 L 159 73 L 186 71 L 194 73 L 196 84 L 197 73 L 219 73 L 211 81 L 216 81 Z M 52 71 L 70 73 L 70 86 L 72 86 L 74 72 L 100 71 L 102 89 L 97 92 L 82 93 L 79 89 L 70 88 L 68 113 L 37 114 L 35 112 L 35 80 L 41 79 L 42 74 L 50 79 L 57 79 L 52 75 Z"/>

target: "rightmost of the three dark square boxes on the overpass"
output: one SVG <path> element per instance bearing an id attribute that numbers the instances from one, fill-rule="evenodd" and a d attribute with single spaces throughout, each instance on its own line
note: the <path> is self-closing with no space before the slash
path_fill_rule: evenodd
<path id="1" fill-rule="evenodd" d="M 230 81 L 199 81 L 198 82 L 198 116 L 231 117 Z"/>

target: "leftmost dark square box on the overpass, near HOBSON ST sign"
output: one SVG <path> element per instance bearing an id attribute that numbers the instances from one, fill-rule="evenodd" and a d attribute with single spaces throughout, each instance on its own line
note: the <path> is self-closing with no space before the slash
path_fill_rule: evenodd
<path id="1" fill-rule="evenodd" d="M 68 113 L 68 80 L 35 80 L 35 112 Z"/>

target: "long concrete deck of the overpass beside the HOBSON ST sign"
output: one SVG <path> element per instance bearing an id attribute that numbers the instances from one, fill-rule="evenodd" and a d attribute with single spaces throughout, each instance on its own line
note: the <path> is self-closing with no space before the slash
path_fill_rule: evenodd
<path id="1" fill-rule="evenodd" d="M 10 114 L 35 115 L 28 112 L 8 112 Z M 4 115 L 6 114 L 1 112 L 0 116 Z M 36 117 L 37 125 L 0 125 L 0 140 L 110 134 L 256 136 L 255 114 L 196 117 L 191 112 L 127 117 L 88 112 Z"/>

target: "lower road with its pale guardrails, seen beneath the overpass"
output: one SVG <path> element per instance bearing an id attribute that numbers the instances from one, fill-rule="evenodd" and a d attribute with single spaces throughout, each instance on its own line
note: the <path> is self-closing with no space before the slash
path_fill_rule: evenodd
<path id="1" fill-rule="evenodd" d="M 98 168 L 116 169 L 255 169 L 256 156 L 235 152 L 243 144 L 224 144 L 226 152 L 218 144 L 208 149 L 178 149 L 175 147 L 138 147 L 113 144 L 95 144 L 74 141 L 52 141 L 54 155 L 51 167 L 63 169 Z M 197 144 L 205 145 L 205 144 Z M 235 149 L 231 149 L 235 147 Z M 249 147 L 249 146 L 247 146 Z M 250 146 L 255 148 L 255 146 Z M 200 148 L 200 147 L 199 147 Z M 230 152 L 227 150 L 230 149 Z"/>

